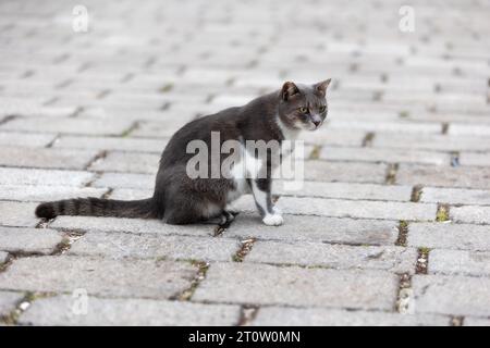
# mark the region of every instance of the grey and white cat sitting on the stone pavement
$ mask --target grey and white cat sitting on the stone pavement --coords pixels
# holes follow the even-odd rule
[[[209,146],[215,132],[220,135],[221,144],[226,140],[242,145],[246,140],[294,140],[299,132],[316,130],[323,124],[330,82],[330,78],[314,85],[286,82],[280,90],[258,97],[243,107],[225,109],[187,123],[172,136],[163,150],[151,198],[132,201],[93,197],[66,199],[40,203],[35,213],[45,219],[58,215],[161,219],[168,224],[220,219],[220,223],[225,225],[236,215],[231,203],[243,194],[252,192],[262,222],[279,226],[283,217],[271,197],[270,174],[277,166],[270,160],[271,153],[260,158],[243,147],[241,161],[228,173],[231,176],[192,178],[187,175],[187,163],[193,153],[187,152],[187,145],[198,139]],[[220,158],[226,156],[220,153]],[[266,175],[235,175],[248,160],[258,162]]]

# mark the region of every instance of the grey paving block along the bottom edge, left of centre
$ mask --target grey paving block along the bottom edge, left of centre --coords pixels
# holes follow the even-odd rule
[[[76,314],[73,301],[71,296],[36,300],[19,323],[42,326],[224,326],[235,325],[240,320],[238,306],[88,297],[87,313]]]

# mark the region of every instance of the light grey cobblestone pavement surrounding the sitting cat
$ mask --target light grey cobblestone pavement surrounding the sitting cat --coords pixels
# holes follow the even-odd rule
[[[490,324],[488,1],[403,1],[413,33],[395,0],[79,3],[0,2],[2,324]],[[34,216],[147,197],[185,122],[327,77],[281,227]]]

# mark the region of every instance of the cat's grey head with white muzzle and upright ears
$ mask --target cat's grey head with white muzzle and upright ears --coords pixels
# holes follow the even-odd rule
[[[330,80],[315,85],[284,83],[280,92],[280,121],[291,129],[318,129],[328,113],[327,87]]]

